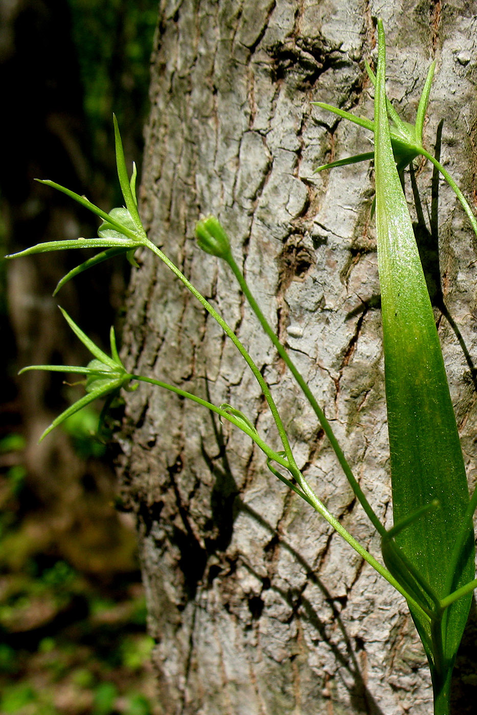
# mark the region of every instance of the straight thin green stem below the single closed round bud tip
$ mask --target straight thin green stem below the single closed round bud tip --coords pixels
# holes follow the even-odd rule
[[[231,253],[229,254],[228,257],[226,257],[226,261],[228,262],[228,265],[231,267],[231,271],[233,272],[233,275],[236,277],[238,285],[241,287],[242,292],[244,292],[246,299],[249,301],[251,309],[254,311],[256,317],[259,319],[261,327],[264,329],[264,332],[266,332],[266,335],[269,336],[271,342],[273,342],[274,346],[276,347],[276,351],[279,353],[280,357],[284,360],[284,363],[288,366],[288,368],[289,368],[291,374],[294,376],[295,380],[297,380],[298,385],[300,386],[300,388],[302,388],[302,391],[303,391],[305,397],[309,401],[309,404],[312,406],[312,409],[313,409],[315,415],[317,415],[319,423],[320,423],[320,425],[322,425],[323,431],[324,431],[325,435],[327,435],[327,438],[329,439],[329,443],[332,445],[335,455],[337,455],[337,459],[339,461],[339,464],[342,467],[342,470],[344,471],[344,475],[346,476],[348,482],[350,483],[352,490],[354,491],[355,495],[357,496],[357,499],[360,501],[362,508],[365,510],[367,517],[370,519],[372,526],[375,527],[376,531],[380,534],[380,536],[385,536],[386,530],[385,530],[384,526],[382,526],[382,523],[380,522],[380,520],[377,518],[375,512],[372,510],[370,503],[367,501],[367,498],[365,497],[364,493],[361,490],[360,485],[357,483],[355,475],[353,475],[353,473],[352,473],[350,465],[348,464],[347,459],[344,456],[342,448],[339,446],[337,438],[334,436],[331,425],[329,424],[326,416],[324,415],[322,408],[320,408],[319,404],[317,403],[317,400],[315,400],[312,391],[309,389],[309,387],[308,387],[307,383],[305,382],[304,378],[302,377],[301,373],[299,373],[299,370],[297,370],[296,366],[292,362],[292,360],[289,357],[288,353],[286,352],[285,348],[283,347],[283,345],[281,345],[281,342],[279,341],[278,337],[276,336],[273,328],[271,327],[269,322],[266,320],[266,317],[264,316],[263,312],[261,312],[258,303],[256,302],[254,296],[252,295],[252,293],[249,289],[249,285],[247,284],[243,273],[241,272],[240,268],[236,264],[236,261],[234,260]]]

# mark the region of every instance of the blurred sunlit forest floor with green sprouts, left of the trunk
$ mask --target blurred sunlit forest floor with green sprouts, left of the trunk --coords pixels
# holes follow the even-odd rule
[[[62,552],[67,533],[44,538],[52,512],[33,498],[23,450],[18,433],[0,439],[0,714],[158,714],[131,520],[116,515],[116,573],[107,550],[82,571]]]

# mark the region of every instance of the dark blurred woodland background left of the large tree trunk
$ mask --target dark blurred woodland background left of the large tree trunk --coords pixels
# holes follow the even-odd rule
[[[157,0],[0,0],[1,257],[97,235],[95,217],[36,177],[106,211],[121,203],[112,112],[140,172],[156,19]],[[0,262],[1,715],[158,711],[133,516],[117,495],[115,448],[95,438],[101,405],[37,445],[82,388],[61,373],[16,376],[90,360],[57,302],[101,347],[110,325],[120,332],[127,262],[52,298],[89,255]]]

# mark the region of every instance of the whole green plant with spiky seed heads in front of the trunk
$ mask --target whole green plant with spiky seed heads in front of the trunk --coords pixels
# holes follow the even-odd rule
[[[372,510],[334,437],[326,416],[251,294],[244,275],[233,259],[230,242],[223,227],[215,217],[206,217],[198,222],[196,235],[198,245],[203,250],[226,261],[231,268],[261,327],[269,335],[277,352],[309,400],[357,499],[380,535],[385,566],[363,548],[342,526],[342,523],[329,513],[300,472],[269,387],[231,327],[178,267],[148,239],[138,214],[135,169],[133,168],[133,175],[129,179],[116,121],[117,173],[125,207],[112,209],[107,215],[84,197],[70,192],[59,184],[46,181],[44,183],[68,194],[102,218],[103,223],[98,230],[99,237],[39,244],[16,255],[77,247],[102,249],[97,255],[70,271],[59,282],[57,286],[59,290],[74,275],[109,257],[126,253],[131,262],[134,262],[134,252],[139,247],[152,251],[218,322],[246,361],[269,405],[282,449],[274,450],[267,445],[251,420],[232,405],[216,406],[174,385],[149,378],[147,375],[128,373],[117,352],[113,330],[110,333],[111,355],[106,355],[64,311],[64,317],[70,327],[92,353],[91,362],[86,368],[35,365],[24,370],[61,370],[85,375],[85,396],[59,415],[45,430],[42,438],[92,400],[106,398],[107,407],[121,388],[133,389],[137,384],[132,387],[131,383],[138,382],[158,385],[202,405],[216,413],[221,420],[228,420],[249,435],[266,455],[266,463],[271,472],[324,516],[345,541],[405,597],[428,656],[433,680],[435,714],[445,715],[450,709],[450,677],[453,664],[466,625],[472,591],[477,585],[473,567],[472,526],[477,494],[474,493],[471,499],[468,495],[456,419],[450,402],[433,310],[399,173],[418,154],[423,154],[443,172],[466,209],[476,232],[477,222],[456,183],[428,154],[422,144],[423,122],[433,77],[433,66],[425,83],[415,127],[411,127],[402,122],[392,105],[387,102],[385,38],[380,22],[378,22],[378,32],[377,75],[375,76],[368,68],[372,82],[375,84],[374,122],[353,117],[326,104],[318,104],[341,117],[352,119],[353,122],[372,130],[375,134],[375,152],[372,154],[343,159],[326,164],[320,169],[372,157],[375,159],[375,213],[394,512],[394,526],[390,531],[386,531]]]

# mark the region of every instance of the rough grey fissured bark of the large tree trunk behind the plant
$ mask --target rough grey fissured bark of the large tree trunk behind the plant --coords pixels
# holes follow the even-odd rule
[[[198,252],[192,237],[200,212],[221,218],[264,312],[390,526],[373,174],[356,164],[313,175],[327,160],[369,151],[370,137],[310,104],[372,117],[363,60],[375,56],[377,14],[388,91],[405,119],[414,120],[437,59],[425,137],[432,150],[443,119],[443,162],[473,201],[477,4],[458,0],[162,1],[141,197],[150,237],[218,305],[272,385],[307,478],[375,554],[379,542],[306,400],[226,266]],[[421,167],[426,222],[431,179]],[[409,175],[406,182],[410,189]],[[434,189],[440,265],[435,222],[433,232],[421,222],[418,237],[471,475],[477,242],[450,189],[442,180]],[[231,403],[278,447],[233,345],[165,267],[150,255],[140,262],[128,368]],[[428,668],[403,598],[269,473],[248,438],[144,385],[127,400],[127,423],[123,484],[138,513],[165,714],[430,713]],[[461,670],[463,712],[475,682],[459,679]]]

